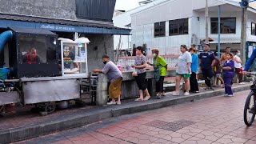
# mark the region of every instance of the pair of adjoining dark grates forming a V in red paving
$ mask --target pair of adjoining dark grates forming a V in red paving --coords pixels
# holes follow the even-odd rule
[[[152,122],[148,122],[145,125],[157,127],[159,129],[163,129],[163,130],[177,131],[186,126],[193,125],[194,123],[195,122],[186,121],[186,120],[180,120],[180,121],[175,121],[175,122],[165,122],[165,121],[155,120]]]

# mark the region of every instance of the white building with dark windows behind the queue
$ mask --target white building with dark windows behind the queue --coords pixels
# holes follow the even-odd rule
[[[148,4],[149,5],[149,4]],[[218,46],[218,6],[221,8],[221,50],[230,46],[240,50],[242,30],[242,9],[239,1],[208,0],[209,18],[205,18],[205,0],[166,0],[131,14],[131,44],[147,50],[158,47],[162,55],[180,54],[179,47],[196,46],[202,48],[206,37],[206,20],[212,50]],[[256,10],[248,8],[246,41],[256,42]]]

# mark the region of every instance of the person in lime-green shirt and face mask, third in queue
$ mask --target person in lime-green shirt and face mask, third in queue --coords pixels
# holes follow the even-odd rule
[[[157,98],[165,96],[163,91],[163,81],[167,74],[167,63],[164,58],[159,56],[158,48],[151,50],[153,55],[153,63],[147,62],[148,65],[154,66],[154,78],[156,81]]]

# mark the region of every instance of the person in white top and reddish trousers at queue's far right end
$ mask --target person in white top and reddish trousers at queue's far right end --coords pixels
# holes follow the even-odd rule
[[[245,83],[242,82],[242,61],[240,56],[240,50],[237,50],[235,52],[235,56],[234,56],[234,68],[235,68],[235,72],[236,74],[238,74],[238,83],[240,85],[244,85]]]

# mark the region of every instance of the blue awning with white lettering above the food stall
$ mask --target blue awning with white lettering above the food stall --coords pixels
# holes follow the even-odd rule
[[[118,28],[110,24],[101,24],[100,22],[84,22],[0,13],[0,28],[8,27],[43,29],[54,32],[130,35],[129,29]]]

